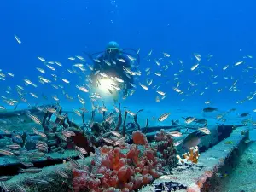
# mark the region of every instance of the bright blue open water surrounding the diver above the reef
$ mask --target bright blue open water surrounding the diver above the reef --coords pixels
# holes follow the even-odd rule
[[[79,94],[90,111],[91,90],[84,93],[76,88],[88,83],[87,64],[92,65],[92,61],[84,52],[104,51],[109,41],[116,41],[122,49],[135,49],[140,56],[140,64],[134,69],[141,72],[135,77],[135,93],[125,100],[120,93],[119,102],[132,112],[144,109],[138,117],[142,126],[147,118],[149,125],[154,126],[171,125],[171,119],[178,119],[182,124],[182,117],[187,116],[207,119],[209,125],[240,125],[245,119],[255,125],[255,6],[253,0],[2,1],[0,106],[15,108],[6,103],[6,99],[13,99],[20,102],[17,109],[24,109],[29,108],[27,103],[31,106],[55,103],[53,96],[57,96],[64,110],[73,110],[82,107],[77,98]],[[78,55],[86,61],[79,61]],[[197,61],[195,55],[199,55],[201,61]],[[47,62],[58,61],[62,67],[53,64],[55,71],[52,71],[38,57]],[[70,57],[75,61],[69,60]],[[160,66],[155,61],[159,61]],[[87,70],[84,74],[79,76],[67,71],[81,62]],[[195,64],[198,67],[191,70]],[[45,73],[39,73],[37,67]],[[151,74],[147,75],[148,68]],[[50,79],[51,83],[39,83],[38,76]],[[37,87],[25,84],[24,79],[31,80]],[[61,79],[68,79],[70,83],[65,84]],[[150,79],[153,83],[148,85]],[[63,89],[56,90],[51,84],[61,85]],[[148,90],[140,84],[147,85]],[[24,87],[27,102],[20,101],[17,85]],[[164,92],[166,97],[162,98],[156,90]],[[68,100],[63,91],[73,100]],[[160,102],[156,102],[157,97]],[[103,100],[109,111],[113,110],[113,98],[108,94]],[[96,102],[96,106],[102,106],[102,100]],[[218,111],[202,113],[206,107],[218,108]],[[235,113],[230,113],[231,108],[236,108]],[[165,122],[155,120],[169,112],[171,115]],[[241,118],[241,113],[249,115]],[[86,115],[88,121],[90,113]],[[218,119],[219,115],[223,116]],[[81,121],[79,116],[74,115],[74,119]],[[0,120],[1,127],[4,120]],[[255,131],[250,134],[250,139],[255,141]]]

